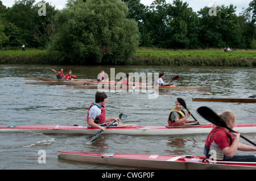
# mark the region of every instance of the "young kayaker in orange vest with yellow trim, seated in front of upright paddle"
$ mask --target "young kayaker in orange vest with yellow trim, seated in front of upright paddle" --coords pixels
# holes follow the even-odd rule
[[[191,112],[188,111],[186,116],[182,108],[183,106],[176,100],[175,108],[171,110],[168,117],[168,125],[170,127],[184,126],[185,123],[198,123],[198,121],[195,120],[187,120],[188,117],[191,116]]]

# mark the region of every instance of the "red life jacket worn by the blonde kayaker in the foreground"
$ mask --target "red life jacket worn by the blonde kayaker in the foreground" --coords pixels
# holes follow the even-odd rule
[[[222,150],[220,149],[220,147],[218,146],[213,146],[212,142],[210,142],[210,138],[212,137],[212,135],[214,133],[216,133],[217,131],[223,131],[226,133],[226,136],[228,136],[229,138],[229,145],[232,145],[232,137],[230,136],[230,134],[228,132],[226,132],[223,128],[214,128],[210,134],[207,137],[207,141],[205,142],[205,146],[204,146],[204,155],[209,158],[211,155],[209,155],[209,151],[210,150],[215,150],[216,151],[216,159],[217,160],[224,160],[224,159],[229,159],[228,157],[226,157],[226,155],[222,152]]]

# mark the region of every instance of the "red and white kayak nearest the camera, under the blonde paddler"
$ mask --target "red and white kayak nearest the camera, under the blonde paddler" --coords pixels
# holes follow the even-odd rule
[[[142,167],[150,169],[256,169],[256,162],[211,161],[205,157],[192,155],[79,153],[57,151],[57,157],[59,159],[68,159],[72,161],[104,163],[109,165]]]

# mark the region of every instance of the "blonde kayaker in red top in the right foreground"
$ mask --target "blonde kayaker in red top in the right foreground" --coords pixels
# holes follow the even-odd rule
[[[236,123],[236,114],[234,112],[226,110],[219,116],[229,128],[234,128]],[[241,144],[239,140],[239,131],[233,133],[216,125],[207,137],[204,154],[207,157],[217,159],[217,161],[256,162],[254,155],[235,155],[237,150],[256,151],[255,147]],[[209,151],[213,152],[213,155],[209,155]]]

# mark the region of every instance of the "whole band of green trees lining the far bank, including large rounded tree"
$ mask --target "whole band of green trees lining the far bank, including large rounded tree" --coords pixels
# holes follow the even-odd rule
[[[44,2],[44,1],[41,1]],[[189,1],[68,0],[65,9],[46,3],[39,16],[35,0],[16,0],[12,7],[0,1],[0,48],[26,44],[48,49],[67,64],[122,64],[138,46],[172,49],[255,49],[256,0],[240,15],[235,5],[194,12]]]

